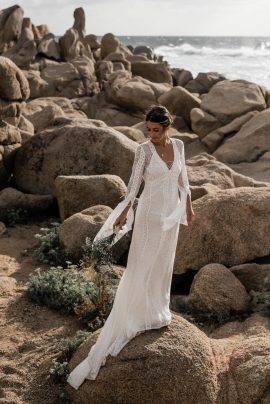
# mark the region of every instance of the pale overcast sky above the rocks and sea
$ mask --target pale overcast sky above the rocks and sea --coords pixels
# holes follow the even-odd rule
[[[1,0],[19,4],[34,24],[56,35],[84,7],[87,34],[270,36],[270,0]]]

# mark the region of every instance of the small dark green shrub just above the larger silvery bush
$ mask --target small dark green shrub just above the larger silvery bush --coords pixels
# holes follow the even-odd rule
[[[42,227],[41,233],[36,234],[38,246],[34,256],[43,264],[63,265],[71,263],[68,254],[61,248],[58,236],[60,223],[51,222],[48,227]]]

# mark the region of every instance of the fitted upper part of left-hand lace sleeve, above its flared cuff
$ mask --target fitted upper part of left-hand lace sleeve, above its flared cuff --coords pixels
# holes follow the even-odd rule
[[[137,146],[134,162],[132,166],[132,171],[130,179],[127,185],[127,191],[124,196],[124,200],[131,202],[131,206],[139,192],[140,185],[142,183],[143,172],[145,167],[145,152],[141,145]]]

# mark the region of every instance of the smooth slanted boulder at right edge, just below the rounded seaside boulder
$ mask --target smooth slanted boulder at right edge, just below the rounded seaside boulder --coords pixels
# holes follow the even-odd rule
[[[225,139],[214,152],[214,156],[231,164],[257,161],[270,151],[269,131],[268,108],[249,119],[234,136]]]

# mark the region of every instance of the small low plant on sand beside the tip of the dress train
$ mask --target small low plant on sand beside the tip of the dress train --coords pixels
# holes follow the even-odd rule
[[[58,349],[60,353],[52,360],[49,373],[55,383],[63,383],[68,376],[68,363],[72,354],[89,336],[90,332],[79,330],[73,337],[64,338],[59,342]]]

